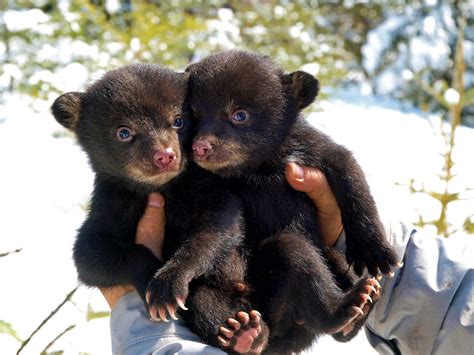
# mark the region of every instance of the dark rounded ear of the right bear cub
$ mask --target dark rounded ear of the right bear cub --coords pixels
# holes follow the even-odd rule
[[[283,75],[283,84],[292,95],[299,109],[309,106],[319,93],[319,81],[304,71]]]

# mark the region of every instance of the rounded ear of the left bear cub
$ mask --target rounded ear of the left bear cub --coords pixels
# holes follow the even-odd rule
[[[51,106],[54,118],[67,129],[74,131],[79,121],[82,92],[68,92],[59,96]]]

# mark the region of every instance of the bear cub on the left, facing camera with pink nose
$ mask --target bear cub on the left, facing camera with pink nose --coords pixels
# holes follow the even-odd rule
[[[133,285],[155,320],[179,312],[205,342],[255,351],[268,328],[236,287],[246,274],[242,205],[220,178],[188,161],[187,77],[131,65],[54,102],[54,117],[76,134],[96,173],[74,262],[88,286]],[[163,262],[134,243],[151,192],[166,200]]]

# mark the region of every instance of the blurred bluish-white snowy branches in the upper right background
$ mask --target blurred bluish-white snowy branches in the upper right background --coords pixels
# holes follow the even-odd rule
[[[446,71],[452,66],[457,31],[452,7],[447,3],[423,9],[406,5],[403,14],[388,13],[380,25],[368,32],[361,48],[362,66],[372,78],[374,91],[401,95],[411,78]],[[473,58],[471,42],[464,41],[466,63]],[[404,75],[407,69],[412,75]]]

